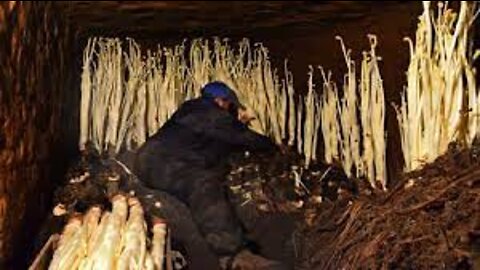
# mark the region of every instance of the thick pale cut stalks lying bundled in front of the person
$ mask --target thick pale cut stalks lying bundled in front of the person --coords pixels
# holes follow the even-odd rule
[[[155,223],[152,233],[148,239],[138,199],[117,195],[111,212],[93,206],[69,220],[49,269],[163,269],[165,223]]]

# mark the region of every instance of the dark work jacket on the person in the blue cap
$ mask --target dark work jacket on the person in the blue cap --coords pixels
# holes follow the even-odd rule
[[[271,151],[275,144],[206,98],[185,102],[139,149],[135,171],[147,185],[182,199],[228,170],[235,151]]]

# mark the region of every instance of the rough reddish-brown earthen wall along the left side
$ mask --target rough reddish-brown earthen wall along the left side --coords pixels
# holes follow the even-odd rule
[[[76,146],[73,36],[52,3],[0,2],[0,268],[26,262]]]

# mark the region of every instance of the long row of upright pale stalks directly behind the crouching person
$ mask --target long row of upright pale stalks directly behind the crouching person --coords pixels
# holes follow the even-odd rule
[[[232,48],[228,40],[195,39],[189,48],[184,43],[142,54],[135,41],[127,41],[88,41],[81,85],[80,149],[88,142],[99,152],[112,154],[137,148],[183,101],[198,97],[200,89],[215,80],[235,89],[253,118],[252,129],[290,145],[303,136],[297,134],[303,128],[297,122],[292,74],[285,63],[285,78],[280,79],[263,45],[252,47],[244,39]],[[316,141],[313,137],[300,140]],[[311,148],[308,151],[314,152]]]

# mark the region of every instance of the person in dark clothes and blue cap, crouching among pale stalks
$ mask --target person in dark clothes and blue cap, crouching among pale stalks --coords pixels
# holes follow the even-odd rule
[[[135,171],[147,186],[184,202],[214,252],[238,253],[244,244],[239,221],[222,181],[236,151],[275,151],[268,137],[238,119],[243,108],[222,82],[204,86],[202,96],[183,103],[139,149]]]

